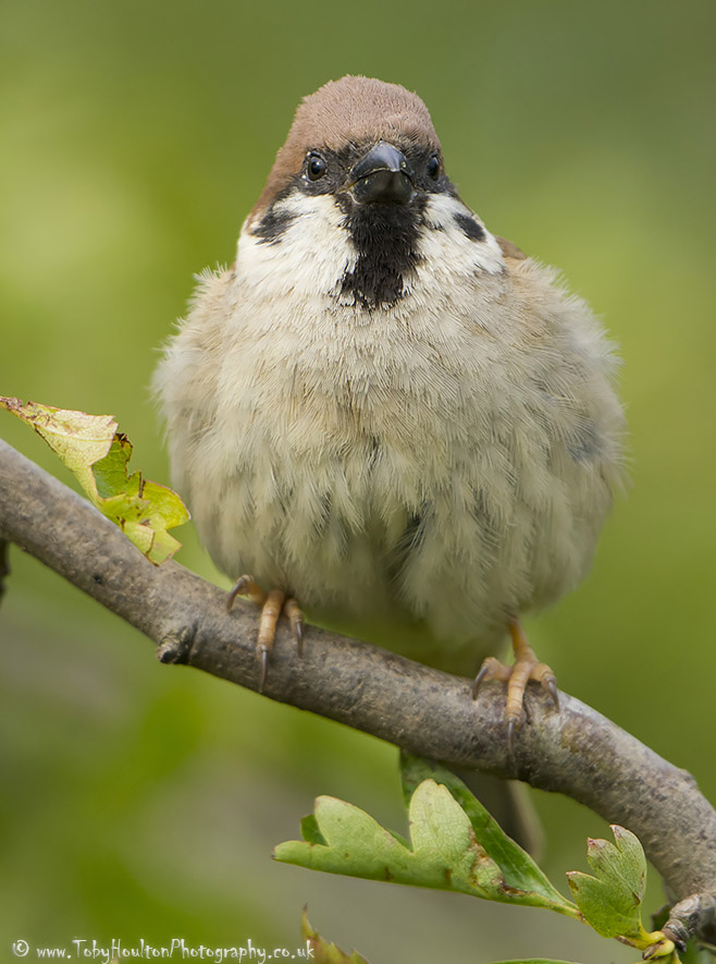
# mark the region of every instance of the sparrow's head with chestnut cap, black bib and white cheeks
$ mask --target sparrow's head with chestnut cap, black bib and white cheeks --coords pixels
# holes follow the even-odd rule
[[[304,99],[246,231],[274,247],[267,256],[276,266],[276,247],[296,248],[306,271],[311,258],[321,268],[326,293],[369,309],[411,290],[436,231],[478,255],[478,266],[501,268],[494,239],[445,173],[425,105],[369,77],[346,76]],[[476,243],[486,244],[481,256]]]

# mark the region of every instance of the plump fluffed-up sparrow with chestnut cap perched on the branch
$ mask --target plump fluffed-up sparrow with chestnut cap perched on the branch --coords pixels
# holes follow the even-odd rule
[[[417,94],[298,106],[231,267],[199,277],[155,387],[172,478],[230,602],[506,684],[522,626],[585,577],[622,476],[614,345],[558,272],[491,233]],[[511,639],[515,663],[496,654]]]

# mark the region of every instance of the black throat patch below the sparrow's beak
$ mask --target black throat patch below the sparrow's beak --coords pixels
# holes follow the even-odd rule
[[[403,297],[421,257],[418,239],[425,200],[418,196],[409,205],[344,206],[343,227],[350,233],[358,258],[343,276],[343,298],[371,309],[394,305]]]

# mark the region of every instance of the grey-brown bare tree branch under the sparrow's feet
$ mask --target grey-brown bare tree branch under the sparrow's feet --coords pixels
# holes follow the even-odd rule
[[[176,563],[155,568],[72,490],[0,441],[0,540],[35,556],[186,663],[257,690],[252,606]],[[298,658],[282,626],[264,693],[372,733],[412,754],[565,793],[628,827],[675,900],[677,938],[716,942],[716,812],[693,778],[595,710],[561,694],[556,712],[530,691],[531,723],[507,743],[504,692],[311,627]]]

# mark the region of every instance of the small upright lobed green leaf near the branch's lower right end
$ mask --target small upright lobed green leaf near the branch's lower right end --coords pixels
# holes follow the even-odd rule
[[[626,937],[641,943],[649,935],[641,923],[641,901],[646,859],[637,837],[624,827],[612,827],[616,845],[589,840],[587,859],[594,876],[571,870],[569,888],[584,919],[602,937]]]

